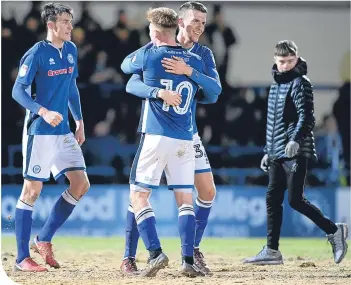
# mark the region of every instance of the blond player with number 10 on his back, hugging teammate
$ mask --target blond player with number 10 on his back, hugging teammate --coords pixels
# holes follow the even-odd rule
[[[169,106],[156,98],[147,98],[141,114],[139,149],[130,174],[130,198],[137,229],[150,253],[143,276],[155,276],[167,266],[168,258],[162,252],[156,232],[156,219],[149,197],[159,186],[163,171],[168,187],[174,190],[179,208],[178,227],[182,245],[182,268],[185,276],[204,276],[194,265],[195,213],[192,203],[195,151],[191,106],[198,85],[185,75],[174,75],[162,66],[164,58],[176,56],[203,72],[200,56],[177,45],[177,13],[169,8],[148,11],[150,37],[154,46],[140,49],[125,62],[127,73],[142,73],[145,83],[157,88],[173,90],[182,95],[182,103]]]

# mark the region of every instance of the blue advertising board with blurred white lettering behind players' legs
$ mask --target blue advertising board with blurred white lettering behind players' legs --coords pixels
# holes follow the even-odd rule
[[[1,191],[1,227],[3,234],[14,232],[14,216],[20,185],[3,185]],[[46,185],[33,212],[33,231],[46,221],[64,185]],[[218,186],[205,235],[213,237],[264,237],[266,235],[265,187]],[[309,188],[306,197],[334,221],[350,226],[350,188]],[[150,199],[161,236],[178,236],[178,209],[172,191],[165,186],[152,192]],[[92,185],[81,199],[60,235],[124,235],[129,205],[128,185]],[[293,211],[284,201],[282,236],[323,237],[308,218]]]

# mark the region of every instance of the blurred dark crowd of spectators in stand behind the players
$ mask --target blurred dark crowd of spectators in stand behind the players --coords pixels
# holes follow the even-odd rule
[[[81,3],[82,15],[72,32],[72,41],[78,48],[77,81],[87,136],[83,151],[88,169],[97,169],[96,173],[91,173],[93,183],[128,183],[129,168],[139,139],[136,128],[141,100],[125,92],[129,76],[123,74],[120,64],[128,54],[149,41],[148,26],[145,23],[142,29],[135,29],[129,23],[127,13],[119,10],[115,25],[103,29],[89,14],[86,3]],[[236,87],[225,81],[229,49],[240,42],[236,31],[226,26],[221,6],[211,5],[214,5],[213,12],[208,17],[201,43],[214,52],[223,92],[216,104],[198,105],[199,134],[207,146],[217,184],[241,181],[266,185],[267,176],[258,168],[265,144],[269,86]],[[21,57],[46,37],[40,19],[41,6],[41,2],[33,2],[23,24],[18,24],[14,17],[6,20],[2,17],[1,21],[3,169],[22,166],[20,149],[9,152],[9,146],[21,144],[25,114],[11,98],[11,91]],[[35,86],[33,89],[35,93]],[[339,89],[333,112],[325,115],[314,131],[319,161],[310,165],[316,171],[311,171],[307,183],[314,186],[349,185],[349,74]],[[3,183],[21,183],[21,173],[14,173],[3,171]]]

